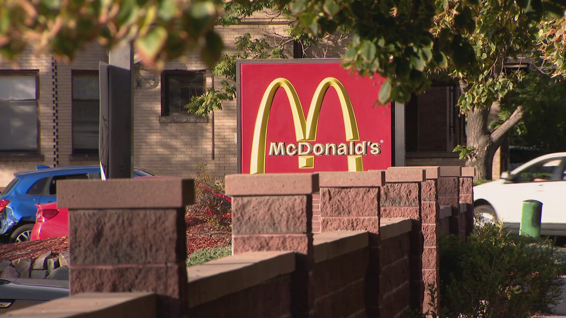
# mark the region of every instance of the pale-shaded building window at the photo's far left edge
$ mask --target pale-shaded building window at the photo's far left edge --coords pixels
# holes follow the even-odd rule
[[[38,151],[38,71],[0,71],[0,152]]]

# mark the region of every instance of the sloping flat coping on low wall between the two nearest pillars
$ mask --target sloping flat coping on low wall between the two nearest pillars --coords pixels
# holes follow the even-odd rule
[[[293,251],[246,252],[187,267],[188,308],[236,293],[294,270]]]

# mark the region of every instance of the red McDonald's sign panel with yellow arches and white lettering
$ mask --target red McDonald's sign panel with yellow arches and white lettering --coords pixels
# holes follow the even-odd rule
[[[237,71],[241,173],[392,166],[393,109],[375,105],[383,78],[336,59],[244,60]]]

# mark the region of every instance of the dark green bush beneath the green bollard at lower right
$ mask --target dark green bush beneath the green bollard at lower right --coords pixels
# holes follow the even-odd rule
[[[482,224],[466,243],[445,235],[439,249],[443,316],[526,318],[561,300],[566,265],[551,240]]]

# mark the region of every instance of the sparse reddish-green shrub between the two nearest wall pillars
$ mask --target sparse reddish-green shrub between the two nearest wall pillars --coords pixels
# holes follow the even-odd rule
[[[215,178],[206,166],[203,163],[197,166],[195,204],[187,207],[187,213],[195,214],[215,226],[216,230],[230,231],[232,208],[230,199],[224,197],[224,180]]]

